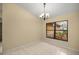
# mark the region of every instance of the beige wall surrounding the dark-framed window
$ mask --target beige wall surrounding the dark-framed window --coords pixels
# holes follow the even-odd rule
[[[68,42],[46,38],[46,23],[68,20]],[[55,19],[48,19],[43,23],[43,41],[56,46],[79,50],[79,12],[57,16]]]

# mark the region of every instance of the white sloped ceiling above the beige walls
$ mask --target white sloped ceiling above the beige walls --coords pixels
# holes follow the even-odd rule
[[[36,17],[43,13],[43,3],[18,3],[17,5],[25,8]],[[46,12],[53,18],[58,15],[79,11],[78,3],[46,3]]]

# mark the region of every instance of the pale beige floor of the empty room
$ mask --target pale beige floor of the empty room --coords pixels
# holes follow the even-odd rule
[[[19,47],[13,50],[9,50],[4,54],[8,55],[78,55],[78,51],[67,50],[52,46],[45,42],[36,43],[30,47]]]

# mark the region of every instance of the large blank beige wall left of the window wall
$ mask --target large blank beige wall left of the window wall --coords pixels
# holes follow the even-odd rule
[[[41,21],[16,4],[3,4],[3,50],[39,41]]]

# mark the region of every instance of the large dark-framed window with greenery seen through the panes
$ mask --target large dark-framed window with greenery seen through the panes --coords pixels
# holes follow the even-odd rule
[[[68,41],[68,21],[46,23],[46,37]]]

